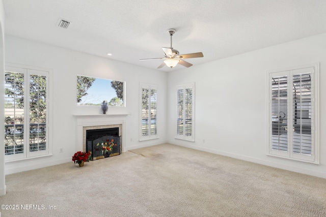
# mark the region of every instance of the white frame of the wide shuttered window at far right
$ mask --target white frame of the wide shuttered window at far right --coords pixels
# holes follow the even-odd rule
[[[292,85],[294,75],[304,75],[305,73],[300,73],[300,71],[307,71],[311,68],[311,84],[312,84],[312,123],[311,123],[311,155],[297,154],[293,153],[293,132],[287,132],[287,151],[273,150],[272,148],[272,131],[273,131],[273,118],[272,117],[272,95],[271,95],[271,77],[272,76],[287,76],[287,129],[292,129],[293,125],[293,95],[292,95]],[[310,64],[301,67],[291,67],[280,70],[267,71],[266,73],[266,155],[278,158],[284,158],[294,161],[307,162],[313,164],[319,164],[319,64]],[[303,109],[304,110],[304,109]],[[305,118],[302,118],[305,119]]]

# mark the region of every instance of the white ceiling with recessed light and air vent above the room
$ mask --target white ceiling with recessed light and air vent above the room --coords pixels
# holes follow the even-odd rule
[[[5,33],[156,69],[170,47],[199,65],[326,32],[325,0],[3,0]],[[67,29],[59,18],[71,21]],[[108,56],[107,53],[112,53]],[[177,66],[172,70],[183,69]],[[164,67],[161,71],[171,71]]]

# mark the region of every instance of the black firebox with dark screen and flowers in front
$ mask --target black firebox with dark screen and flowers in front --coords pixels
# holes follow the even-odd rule
[[[119,155],[120,143],[119,127],[86,130],[86,152],[92,161]]]

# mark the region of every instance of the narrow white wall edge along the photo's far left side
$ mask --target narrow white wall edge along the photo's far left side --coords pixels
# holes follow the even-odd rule
[[[0,73],[2,76],[0,76],[0,102],[4,102],[5,98],[5,76],[4,76],[4,21],[5,21],[5,11],[4,11],[4,5],[3,1],[0,0]],[[3,104],[1,104],[3,105]],[[4,114],[4,106],[0,106],[0,114]],[[5,122],[5,116],[1,115],[0,117],[0,122],[4,123]],[[5,126],[0,125],[0,132],[5,132]],[[5,141],[5,135],[2,133],[0,134],[0,141]],[[1,142],[0,143],[0,196],[6,194],[6,183],[5,183],[5,143]]]

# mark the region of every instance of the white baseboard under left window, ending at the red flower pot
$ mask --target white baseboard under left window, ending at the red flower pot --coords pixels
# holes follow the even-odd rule
[[[58,164],[64,164],[67,162],[71,162],[71,158],[61,159],[61,160],[51,161],[51,162],[43,162],[42,164],[39,164],[36,162],[35,164],[32,164],[32,165],[15,167],[15,168],[10,168],[10,169],[6,169],[6,165],[5,165],[5,174],[9,175],[9,174],[18,173],[18,172],[35,170],[35,169],[39,169],[39,168],[43,168],[43,167],[50,167],[50,166],[55,166]],[[15,163],[15,162],[10,162],[10,163]],[[7,163],[7,164],[10,164],[10,163]]]

